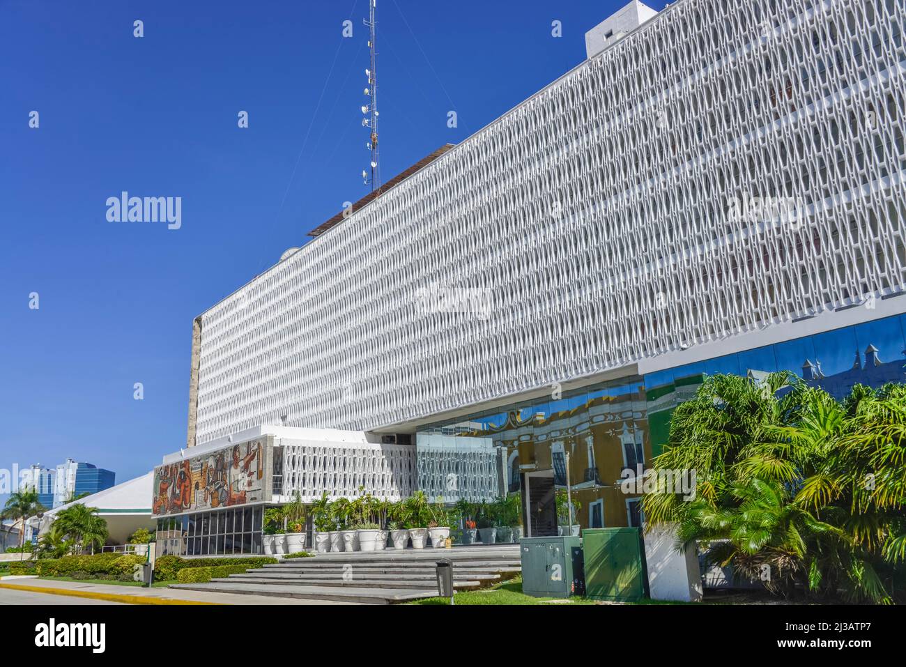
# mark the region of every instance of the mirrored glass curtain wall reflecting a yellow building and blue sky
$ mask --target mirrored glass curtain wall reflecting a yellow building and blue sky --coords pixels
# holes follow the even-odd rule
[[[897,315],[431,424],[416,438],[419,488],[447,502],[490,501],[522,493],[526,472],[549,473],[563,498],[568,474],[573,524],[639,526],[640,496],[624,492],[622,479],[651,466],[669,439],[673,410],[706,375],[758,380],[787,370],[842,400],[857,383],[906,382],[904,329],[906,315]]]

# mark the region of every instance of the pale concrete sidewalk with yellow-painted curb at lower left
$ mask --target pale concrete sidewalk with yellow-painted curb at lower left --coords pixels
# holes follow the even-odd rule
[[[139,586],[104,585],[53,579],[0,579],[0,598],[5,591],[33,594],[56,594],[85,600],[104,600],[124,604],[351,604],[324,600],[300,600],[269,595],[239,595],[173,588],[140,588]]]

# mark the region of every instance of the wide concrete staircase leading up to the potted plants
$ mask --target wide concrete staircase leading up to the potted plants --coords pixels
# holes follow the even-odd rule
[[[509,579],[522,568],[518,545],[459,546],[452,549],[406,549],[318,554],[281,559],[276,565],[207,584],[171,588],[219,593],[275,595],[306,600],[391,604],[438,594],[436,563],[453,562],[454,586],[472,590]]]

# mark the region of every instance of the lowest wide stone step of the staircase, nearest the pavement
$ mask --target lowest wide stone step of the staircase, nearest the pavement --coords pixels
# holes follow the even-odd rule
[[[181,588],[187,591],[208,591],[214,593],[233,593],[246,595],[273,595],[275,597],[293,597],[305,600],[331,600],[333,602],[356,602],[361,604],[391,604],[409,602],[431,597],[429,591],[416,588],[356,588],[353,586],[294,586],[294,585],[260,585],[232,584],[228,582],[211,582],[209,584],[174,584],[170,588]]]

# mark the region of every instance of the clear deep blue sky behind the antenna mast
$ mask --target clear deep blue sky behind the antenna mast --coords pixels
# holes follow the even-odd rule
[[[379,0],[384,178],[581,63],[623,4]],[[0,0],[0,468],[124,481],[184,444],[193,317],[366,193],[367,7]],[[182,227],[107,222],[121,190],[181,197]]]

